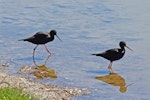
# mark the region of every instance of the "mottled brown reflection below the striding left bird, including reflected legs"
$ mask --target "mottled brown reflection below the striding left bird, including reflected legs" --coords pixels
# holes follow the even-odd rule
[[[27,76],[34,75],[37,79],[45,78],[57,78],[56,72],[54,69],[51,69],[46,66],[47,61],[49,60],[50,55],[46,58],[45,63],[37,65],[35,60],[33,61],[35,66],[23,66],[19,69],[18,73],[25,74]]]

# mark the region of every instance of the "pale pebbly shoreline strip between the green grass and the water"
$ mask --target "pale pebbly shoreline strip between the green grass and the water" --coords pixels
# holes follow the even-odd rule
[[[10,76],[0,68],[0,87],[7,86],[22,88],[24,93],[30,93],[40,100],[72,100],[75,96],[88,94],[87,89],[60,87],[20,76]]]

